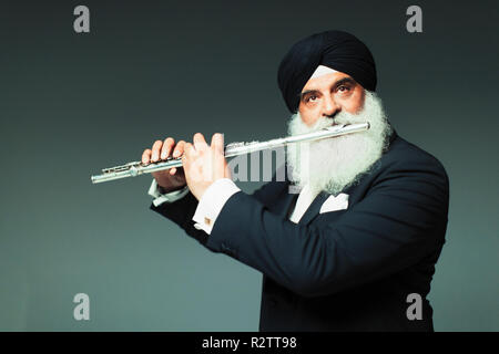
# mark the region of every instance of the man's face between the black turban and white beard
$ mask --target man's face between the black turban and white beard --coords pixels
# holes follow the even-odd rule
[[[340,111],[357,114],[364,106],[365,91],[352,76],[334,72],[308,80],[302,90],[299,115],[314,125],[322,117],[334,117]]]

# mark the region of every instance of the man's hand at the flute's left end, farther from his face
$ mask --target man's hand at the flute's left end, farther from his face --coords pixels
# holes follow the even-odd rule
[[[167,137],[164,142],[156,140],[152,149],[147,148],[142,153],[142,163],[157,163],[165,160],[169,157],[180,157],[184,154],[185,142],[180,140],[175,144],[172,137]],[[164,192],[170,192],[180,189],[186,185],[184,169],[170,168],[152,173],[152,176],[156,180],[157,185],[163,188]]]

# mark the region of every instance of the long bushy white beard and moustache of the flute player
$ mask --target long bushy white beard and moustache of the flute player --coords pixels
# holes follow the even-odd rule
[[[337,195],[358,181],[388,145],[391,127],[381,100],[368,91],[358,114],[340,112],[334,118],[324,117],[313,126],[307,126],[297,113],[291,117],[288,133],[297,135],[315,132],[330,126],[333,121],[335,124],[369,122],[370,128],[363,133],[289,145],[287,163],[292,181],[298,188],[308,185],[312,192],[324,190]]]

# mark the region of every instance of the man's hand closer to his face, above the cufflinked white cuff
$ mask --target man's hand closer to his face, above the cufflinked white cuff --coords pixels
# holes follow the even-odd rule
[[[206,189],[217,179],[231,178],[224,156],[224,137],[214,134],[208,146],[203,134],[196,133],[194,144],[186,143],[182,164],[191,192],[201,200]]]

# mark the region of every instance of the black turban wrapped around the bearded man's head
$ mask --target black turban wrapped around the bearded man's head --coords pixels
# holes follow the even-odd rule
[[[279,65],[277,81],[292,113],[297,111],[302,88],[318,65],[350,75],[368,91],[376,90],[376,65],[363,42],[343,31],[316,33],[293,45]]]

